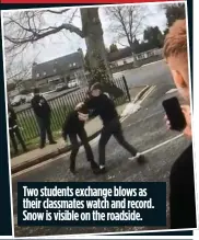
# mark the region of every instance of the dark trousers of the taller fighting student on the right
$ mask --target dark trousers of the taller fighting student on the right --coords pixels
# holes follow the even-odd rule
[[[132,156],[137,155],[137,149],[129,145],[122,135],[121,124],[119,119],[114,119],[104,128],[101,133],[101,139],[98,142],[98,155],[99,155],[99,164],[105,165],[105,148],[110,139],[112,135],[116,138],[119,145],[121,145],[127,151],[129,151]]]

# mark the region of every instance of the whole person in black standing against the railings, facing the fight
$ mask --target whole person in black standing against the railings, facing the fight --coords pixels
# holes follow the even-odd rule
[[[38,89],[34,89],[34,98],[32,99],[31,104],[40,129],[40,148],[44,148],[46,145],[46,133],[49,144],[57,144],[52,138],[50,129],[50,106],[45,98],[39,94]]]

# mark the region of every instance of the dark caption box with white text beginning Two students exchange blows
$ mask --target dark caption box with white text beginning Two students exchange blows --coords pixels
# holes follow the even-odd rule
[[[19,226],[166,226],[166,183],[19,183]]]

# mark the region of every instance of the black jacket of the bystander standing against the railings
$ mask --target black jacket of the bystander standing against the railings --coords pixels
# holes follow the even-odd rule
[[[42,95],[35,95],[31,104],[33,106],[33,111],[37,117],[47,118],[50,115],[50,106],[48,102]]]

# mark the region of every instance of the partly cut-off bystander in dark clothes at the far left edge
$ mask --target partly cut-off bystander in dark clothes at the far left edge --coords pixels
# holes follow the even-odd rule
[[[17,142],[16,142],[15,136],[16,136],[17,140],[20,141],[23,151],[25,152],[25,151],[27,151],[27,149],[26,149],[25,142],[22,138],[22,135],[20,133],[20,128],[17,126],[16,114],[10,104],[8,106],[8,113],[9,113],[9,134],[10,134],[10,139],[12,141],[12,146],[14,148],[14,153],[15,155],[19,153]]]

